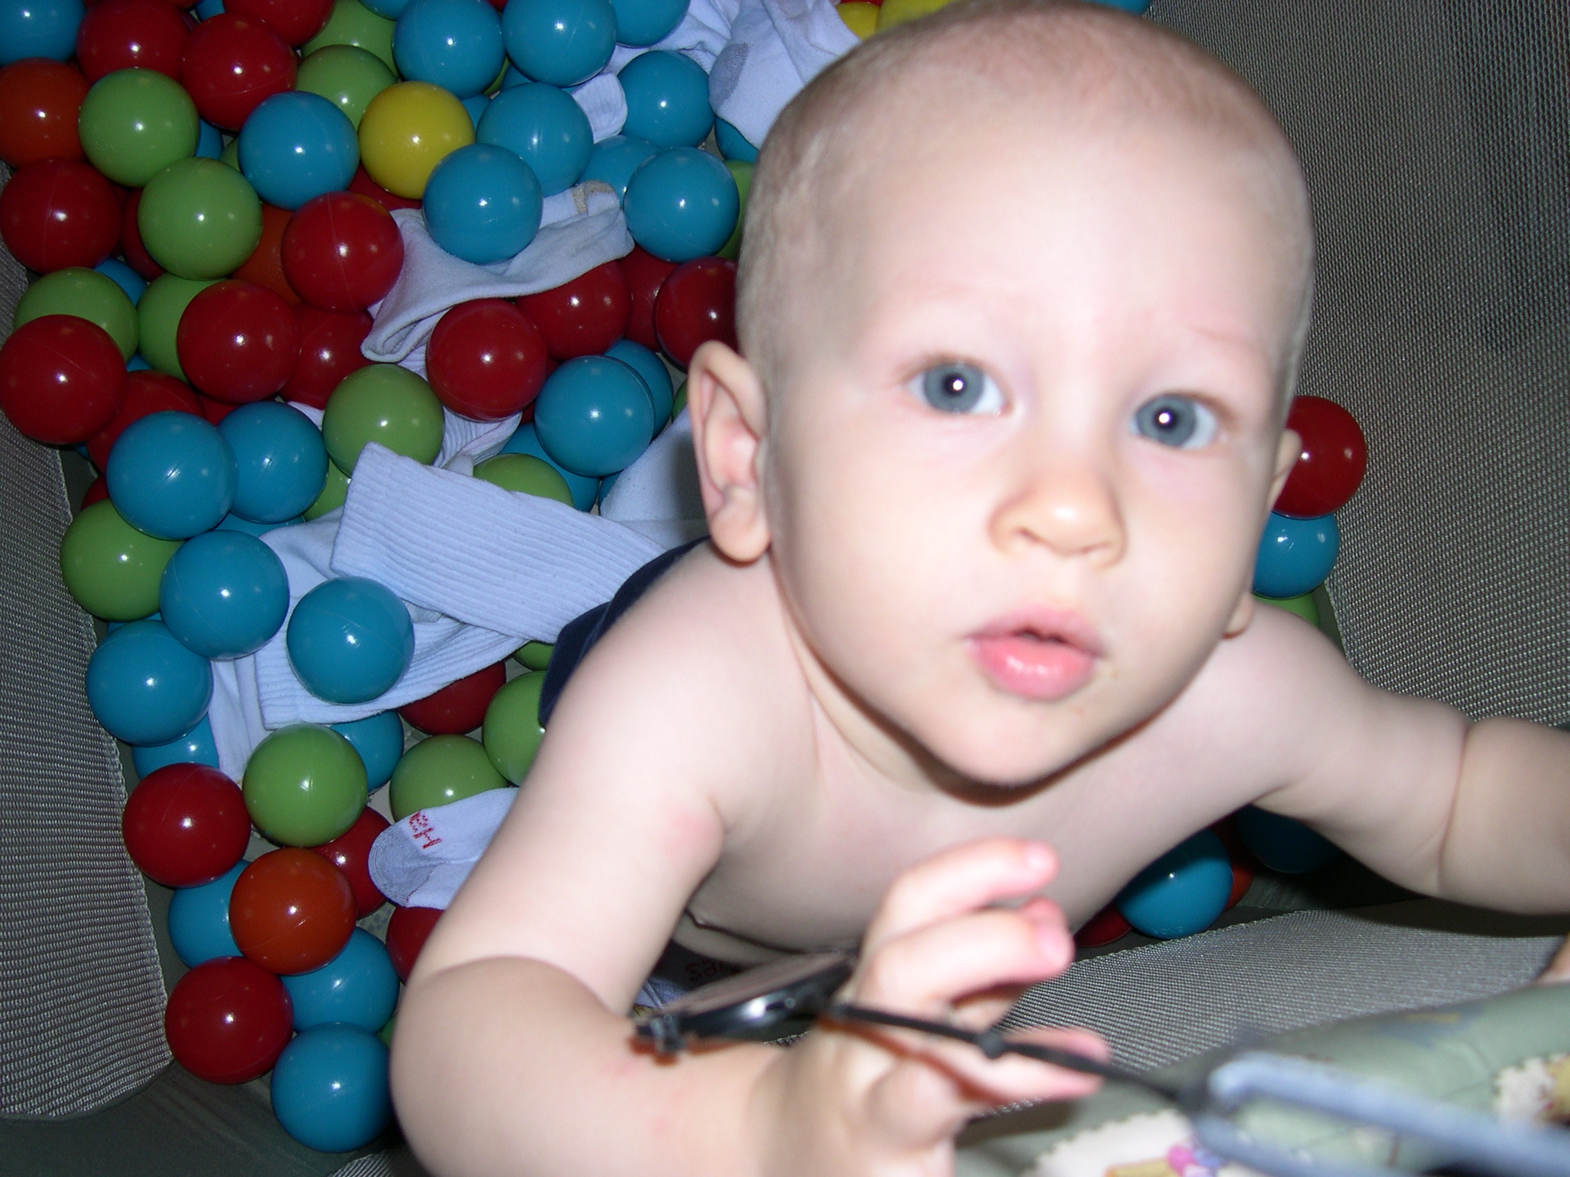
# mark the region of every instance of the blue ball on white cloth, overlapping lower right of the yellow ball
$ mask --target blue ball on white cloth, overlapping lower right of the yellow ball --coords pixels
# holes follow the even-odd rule
[[[430,173],[424,207],[436,245],[454,257],[490,265],[534,240],[545,201],[528,163],[506,148],[471,143]]]

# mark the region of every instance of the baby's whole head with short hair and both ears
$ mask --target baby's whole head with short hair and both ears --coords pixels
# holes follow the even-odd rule
[[[1251,617],[1309,264],[1281,130],[1151,24],[959,0],[809,85],[689,378],[835,720],[1024,783],[1174,698]]]

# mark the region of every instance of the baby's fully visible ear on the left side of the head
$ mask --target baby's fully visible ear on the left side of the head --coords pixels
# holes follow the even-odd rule
[[[710,538],[732,560],[750,563],[769,546],[760,469],[768,428],[763,384],[752,364],[708,342],[688,366],[688,405]]]

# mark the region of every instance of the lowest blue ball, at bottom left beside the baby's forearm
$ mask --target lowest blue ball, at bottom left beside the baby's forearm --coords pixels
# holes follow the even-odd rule
[[[308,1149],[358,1149],[392,1122],[388,1048],[360,1026],[312,1026],[278,1056],[272,1094],[278,1122]]]

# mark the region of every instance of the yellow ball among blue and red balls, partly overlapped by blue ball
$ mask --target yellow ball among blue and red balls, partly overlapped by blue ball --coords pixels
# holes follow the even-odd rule
[[[391,193],[418,201],[432,169],[474,141],[469,111],[429,82],[397,82],[360,119],[360,162]]]

